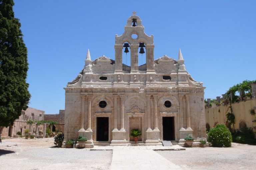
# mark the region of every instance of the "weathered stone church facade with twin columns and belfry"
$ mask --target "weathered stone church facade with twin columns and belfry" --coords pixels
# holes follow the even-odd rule
[[[115,60],[103,55],[92,61],[88,50],[84,68],[64,88],[64,140],[81,134],[87,147],[129,145],[134,128],[142,133],[138,142],[146,145],[182,143],[191,133],[206,137],[205,87],[187,72],[181,50],[178,60],[167,55],[155,60],[154,37],[145,34],[135,12],[124,29],[115,36]],[[130,66],[123,63],[123,50],[130,54]],[[146,56],[140,66],[138,53]]]

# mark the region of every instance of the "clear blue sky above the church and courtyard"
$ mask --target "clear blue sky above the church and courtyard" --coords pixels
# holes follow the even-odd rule
[[[83,69],[88,48],[92,60],[115,59],[115,35],[132,11],[154,35],[155,59],[177,59],[180,48],[187,71],[204,83],[205,98],[256,79],[255,0],[14,2],[28,48],[29,107],[46,114],[65,109],[63,87]]]

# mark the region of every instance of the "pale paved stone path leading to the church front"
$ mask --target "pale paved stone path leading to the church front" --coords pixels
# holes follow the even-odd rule
[[[174,151],[175,152],[175,151]],[[177,152],[177,151],[176,151]],[[182,170],[151,149],[113,149],[111,170]]]

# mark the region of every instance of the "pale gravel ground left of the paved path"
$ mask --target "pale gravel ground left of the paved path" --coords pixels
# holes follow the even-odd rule
[[[54,138],[4,139],[0,143],[0,169],[109,169],[112,150],[57,148]]]

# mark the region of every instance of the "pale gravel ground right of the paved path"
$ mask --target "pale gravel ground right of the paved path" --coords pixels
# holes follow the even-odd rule
[[[193,147],[180,151],[157,151],[184,170],[255,170],[256,146],[232,143],[229,148]]]

